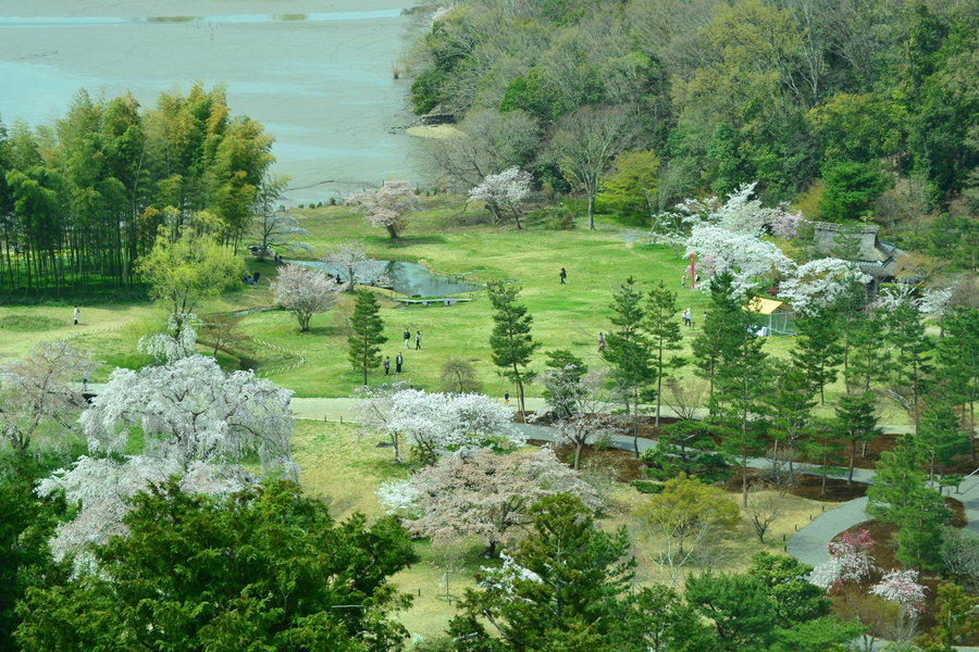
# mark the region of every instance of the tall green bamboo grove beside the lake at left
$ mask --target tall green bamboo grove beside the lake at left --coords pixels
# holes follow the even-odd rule
[[[136,260],[191,216],[236,247],[271,147],[200,84],[154,109],[80,90],[53,126],[0,123],[0,296],[139,285]]]

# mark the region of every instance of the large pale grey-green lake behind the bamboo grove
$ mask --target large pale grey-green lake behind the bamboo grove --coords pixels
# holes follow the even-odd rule
[[[2,0],[0,120],[62,117],[79,88],[153,105],[195,82],[227,85],[235,114],[275,137],[289,199],[325,201],[385,179],[427,183],[394,79],[424,18],[412,0]]]

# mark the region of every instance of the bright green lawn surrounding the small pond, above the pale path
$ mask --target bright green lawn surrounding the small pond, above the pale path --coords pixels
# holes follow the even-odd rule
[[[542,342],[533,368],[543,366],[548,350],[566,348],[593,365],[602,365],[597,353],[598,334],[611,328],[609,323],[611,294],[628,276],[633,276],[642,289],[664,280],[679,294],[679,308],[691,308],[694,329],[684,331],[685,344],[703,324],[706,296],[681,287],[685,261],[677,258],[666,246],[652,244],[637,227],[611,224],[598,218],[597,230],[578,228],[559,230],[546,224],[531,223],[517,230],[509,225],[491,225],[488,215],[464,206],[451,196],[424,198],[424,210],[417,213],[404,237],[392,241],[386,233],[371,228],[362,217],[344,206],[301,209],[297,213],[309,230],[314,253],[324,255],[331,248],[354,238],[362,238],[369,253],[381,260],[419,262],[437,274],[466,275],[485,283],[507,280],[522,288],[521,300],[534,317],[533,335]],[[269,280],[274,277],[271,263],[259,263],[246,256],[249,269],[262,272],[259,288],[230,292],[199,312],[245,311],[269,306]],[[558,272],[568,271],[568,285],[559,285]],[[382,300],[382,316],[387,343],[382,354],[394,360],[405,355],[402,379],[413,386],[439,389],[443,365],[460,359],[473,365],[490,396],[513,393],[491,361],[488,337],[492,330],[491,308],[485,292],[473,293],[475,301],[451,308],[410,308],[393,301],[386,290],[375,290]],[[92,351],[107,364],[94,379],[101,380],[114,366],[138,367],[148,362],[136,353],[139,337],[163,324],[162,311],[149,302],[121,305],[82,306],[82,325],[71,324],[71,305],[3,306],[0,305],[0,359],[23,354],[32,344],[45,339],[71,339],[78,347]],[[235,355],[220,354],[226,368],[253,367],[299,397],[350,396],[360,377],[347,361],[346,337],[352,301],[345,296],[331,312],[313,317],[310,331],[300,334],[295,317],[280,310],[249,314],[243,328],[252,341],[235,351]],[[405,351],[402,331],[422,331],[422,350]],[[784,355],[792,338],[769,338],[766,349],[773,355]],[[687,348],[689,352],[689,348]],[[682,372],[692,373],[690,368]],[[371,381],[381,381],[381,369]],[[529,396],[540,396],[542,389],[528,386]],[[842,392],[842,385],[828,389],[828,399]],[[906,417],[897,410],[882,415],[885,423],[902,423]]]

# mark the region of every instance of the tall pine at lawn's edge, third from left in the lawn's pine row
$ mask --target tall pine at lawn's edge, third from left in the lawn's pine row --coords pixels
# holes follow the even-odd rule
[[[612,294],[611,323],[618,330],[605,338],[602,356],[611,365],[611,379],[625,404],[625,414],[632,415],[632,442],[639,456],[640,392],[653,373],[649,366],[648,342],[640,331],[643,322],[643,294],[629,277]],[[631,404],[631,410],[630,410]]]

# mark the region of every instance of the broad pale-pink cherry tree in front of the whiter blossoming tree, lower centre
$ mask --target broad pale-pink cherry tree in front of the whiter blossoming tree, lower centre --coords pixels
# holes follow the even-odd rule
[[[545,496],[571,493],[592,509],[600,506],[595,490],[549,448],[447,455],[410,480],[382,485],[377,493],[389,511],[417,516],[404,521],[409,531],[442,542],[479,536],[491,556],[530,524],[528,510]]]

